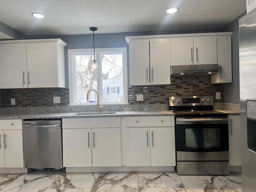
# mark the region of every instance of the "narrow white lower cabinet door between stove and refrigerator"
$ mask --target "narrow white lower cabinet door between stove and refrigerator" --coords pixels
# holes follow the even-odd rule
[[[241,166],[241,119],[240,115],[229,115],[229,165]]]

